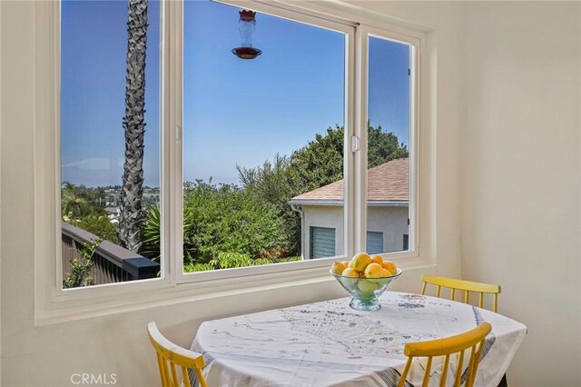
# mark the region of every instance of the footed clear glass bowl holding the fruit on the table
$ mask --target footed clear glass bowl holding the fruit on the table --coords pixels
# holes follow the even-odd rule
[[[354,278],[333,274],[333,277],[350,293],[349,306],[358,311],[377,311],[381,308],[379,296],[385,292],[391,283],[398,279],[401,269],[389,277]]]

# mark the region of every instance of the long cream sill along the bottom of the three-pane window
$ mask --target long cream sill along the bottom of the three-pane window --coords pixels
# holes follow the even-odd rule
[[[404,271],[432,266],[431,263],[419,257],[393,261]],[[163,280],[117,283],[112,286],[83,289],[86,292],[74,290],[62,297],[54,297],[53,303],[46,305],[44,310],[36,311],[34,325],[66,323],[179,303],[197,303],[206,300],[219,302],[221,299],[251,293],[260,294],[277,290],[286,290],[291,293],[292,289],[305,285],[327,286],[330,283],[335,283],[335,280],[329,274],[329,264],[325,264],[324,267],[191,283],[172,284]],[[123,293],[120,292],[120,286],[125,287]],[[97,293],[99,294],[96,295]],[[339,285],[337,285],[336,294],[337,297],[345,296]]]

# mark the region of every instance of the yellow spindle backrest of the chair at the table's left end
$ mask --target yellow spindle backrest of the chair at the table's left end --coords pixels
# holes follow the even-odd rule
[[[196,372],[198,382],[200,382],[202,387],[208,386],[202,374],[202,368],[205,363],[200,353],[188,351],[170,342],[162,335],[162,332],[157,329],[153,322],[147,324],[147,333],[155,352],[157,352],[157,364],[160,368],[162,387],[180,387],[182,385],[181,382],[183,382],[185,387],[191,387],[189,370]],[[178,375],[176,367],[180,368],[181,375]]]

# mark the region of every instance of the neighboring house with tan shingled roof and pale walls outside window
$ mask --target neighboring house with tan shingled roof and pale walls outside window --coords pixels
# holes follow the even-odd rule
[[[409,159],[391,160],[368,171],[367,252],[408,250]],[[301,216],[303,259],[343,254],[343,180],[295,196]]]

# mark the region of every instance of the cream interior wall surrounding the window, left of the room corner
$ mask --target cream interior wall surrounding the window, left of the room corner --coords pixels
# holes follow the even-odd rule
[[[438,129],[430,151],[435,189],[429,200],[438,215],[433,235],[438,265],[431,273],[460,275],[459,268],[459,129],[463,5],[450,3],[365,3],[400,20],[428,28],[429,50],[438,65],[429,90],[438,104],[430,114]],[[116,374],[116,385],[155,385],[153,350],[145,326],[156,321],[174,342],[189,346],[199,323],[225,315],[307,303],[343,295],[326,278],[320,283],[271,286],[228,297],[155,304],[68,323],[34,325],[34,5],[32,1],[0,2],[1,11],[1,293],[3,386],[72,385],[73,373]],[[37,123],[41,125],[42,123]],[[426,134],[436,136],[435,130]],[[42,253],[42,252],[38,252]],[[409,270],[395,290],[419,291],[419,274]],[[192,299],[195,294],[192,293]]]

